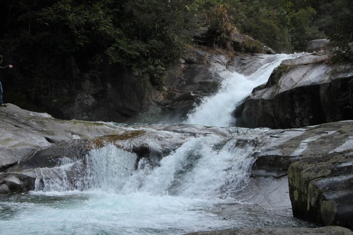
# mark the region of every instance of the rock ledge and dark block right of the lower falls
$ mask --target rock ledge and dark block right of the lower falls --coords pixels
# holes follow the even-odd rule
[[[288,170],[293,215],[352,229],[353,122],[287,129],[262,138],[254,176]]]

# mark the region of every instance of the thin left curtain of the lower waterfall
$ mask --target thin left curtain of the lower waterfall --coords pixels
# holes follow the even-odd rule
[[[108,144],[91,150],[84,159],[73,162],[64,158],[53,168],[37,168],[35,190],[70,191],[102,189],[116,191],[132,174],[136,154]]]

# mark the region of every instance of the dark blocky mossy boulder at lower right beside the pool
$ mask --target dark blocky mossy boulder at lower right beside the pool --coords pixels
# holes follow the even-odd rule
[[[310,137],[307,147],[311,151],[304,151],[300,161],[289,166],[293,214],[353,229],[353,126],[350,121],[337,122],[329,131],[328,126],[314,127],[315,132],[327,129],[327,134]],[[316,138],[319,146],[314,144]],[[336,148],[326,151],[329,145]]]

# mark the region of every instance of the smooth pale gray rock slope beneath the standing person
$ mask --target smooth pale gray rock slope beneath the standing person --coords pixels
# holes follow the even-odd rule
[[[0,112],[0,171],[60,141],[116,134],[101,122],[63,121],[8,104]]]

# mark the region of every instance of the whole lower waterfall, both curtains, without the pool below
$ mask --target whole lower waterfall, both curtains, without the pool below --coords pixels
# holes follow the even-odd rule
[[[36,190],[225,198],[246,185],[254,162],[253,144],[236,147],[236,142],[224,143],[215,135],[193,138],[164,157],[159,166],[142,159],[137,169],[136,154],[108,144],[90,150],[82,160],[64,159],[61,166],[36,169]]]

